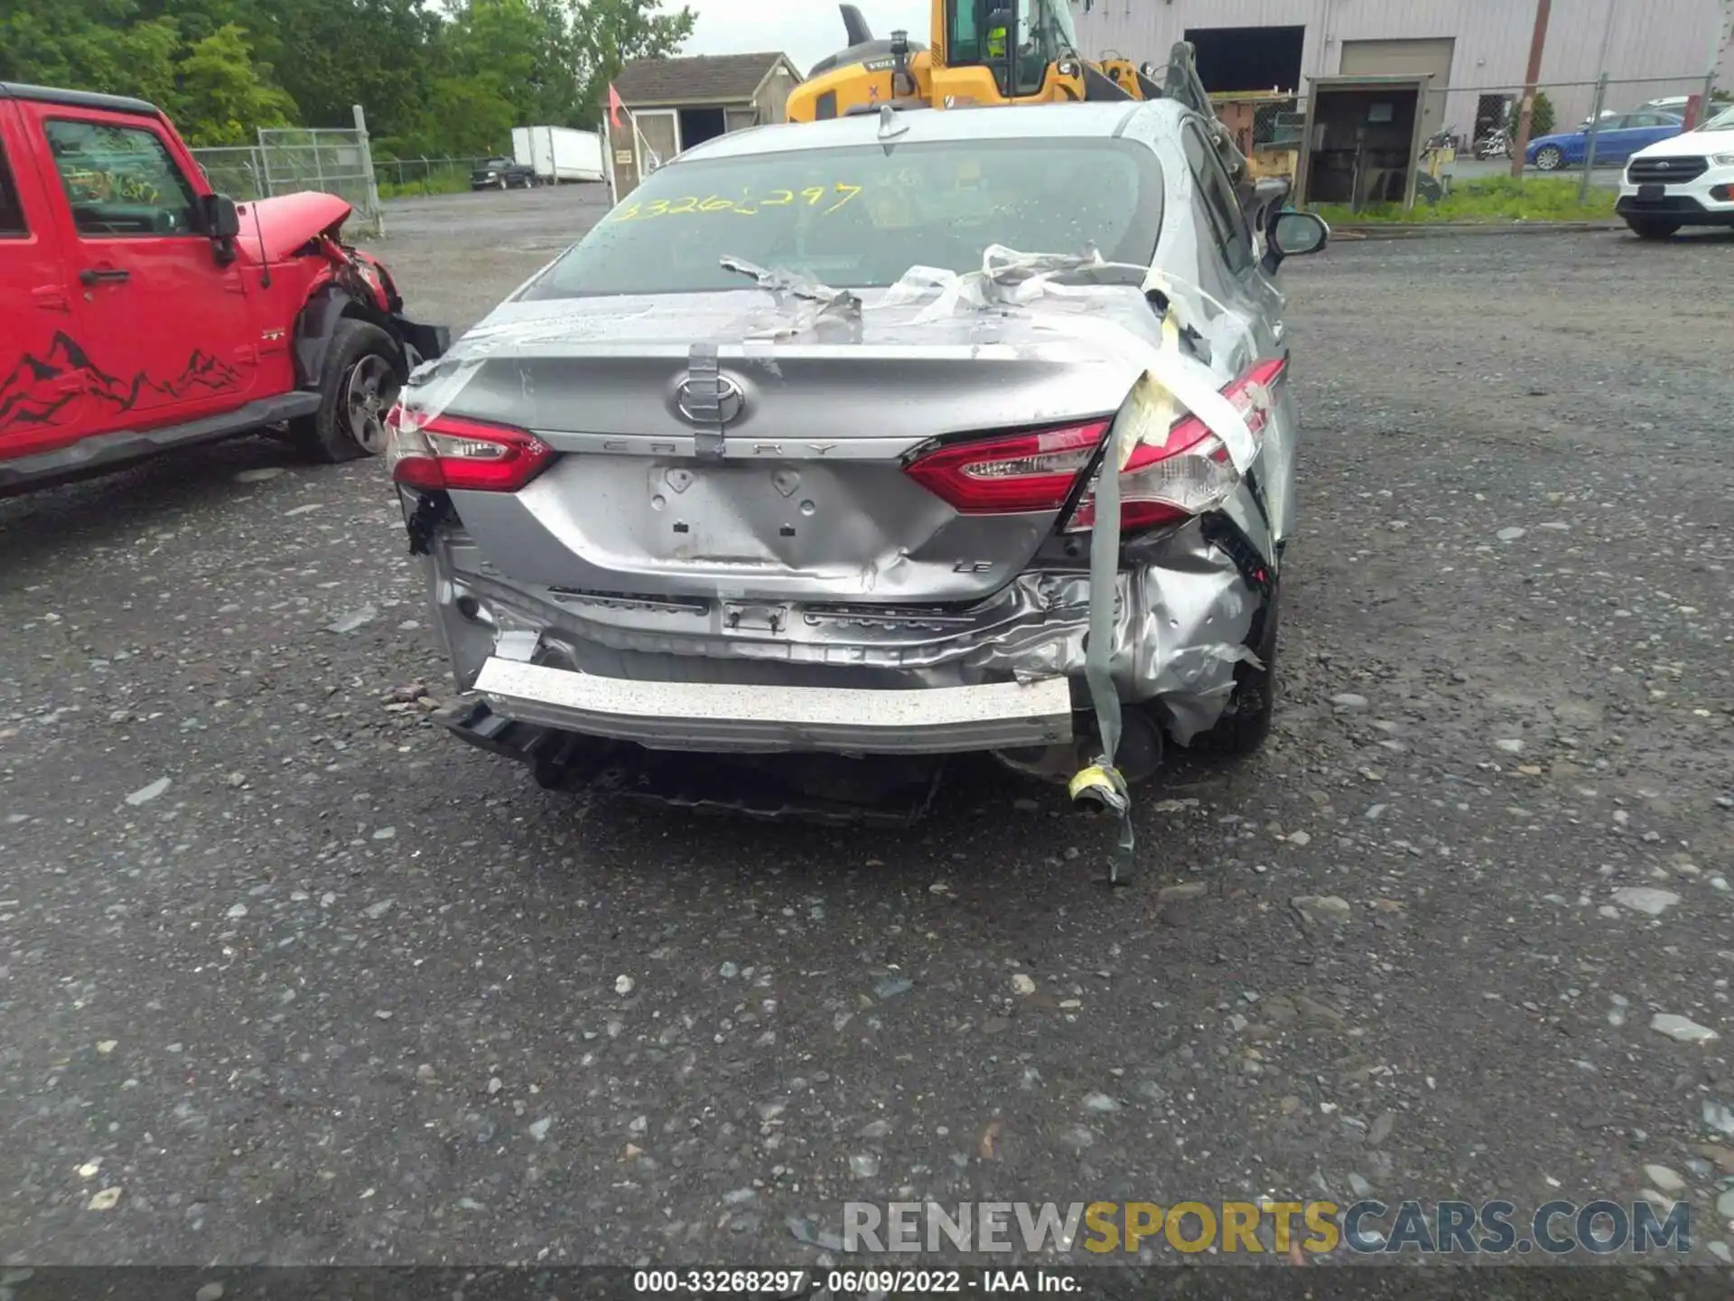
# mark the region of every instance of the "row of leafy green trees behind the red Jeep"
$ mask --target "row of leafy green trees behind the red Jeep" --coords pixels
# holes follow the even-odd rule
[[[595,125],[621,66],[692,23],[661,0],[0,0],[0,80],[139,95],[196,144],[361,104],[381,154],[484,153]]]

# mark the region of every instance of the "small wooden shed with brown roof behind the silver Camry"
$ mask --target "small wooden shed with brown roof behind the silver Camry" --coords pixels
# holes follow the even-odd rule
[[[603,106],[616,198],[636,189],[643,175],[681,149],[744,127],[786,121],[789,92],[799,80],[789,56],[775,52],[626,64],[614,78],[626,108],[619,125]]]

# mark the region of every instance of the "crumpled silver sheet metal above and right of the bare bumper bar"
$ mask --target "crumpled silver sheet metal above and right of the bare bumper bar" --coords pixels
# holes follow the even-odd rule
[[[460,680],[473,678],[496,652],[492,635],[456,612],[466,593],[487,604],[501,635],[531,631],[572,668],[614,677],[751,682],[763,673],[766,682],[825,685],[836,682],[827,677],[836,668],[850,668],[877,673],[884,685],[961,687],[1084,671],[1091,583],[1082,571],[1021,574],[969,626],[808,623],[796,607],[789,633],[742,637],[721,630],[720,607],[709,618],[635,612],[623,602],[586,604],[499,583],[477,572],[473,552],[461,546],[447,548],[439,569],[435,604]],[[1221,716],[1235,664],[1255,663],[1245,645],[1255,609],[1233,560],[1196,524],[1177,529],[1115,585],[1108,666],[1120,697],[1153,701],[1174,739],[1191,741]]]

